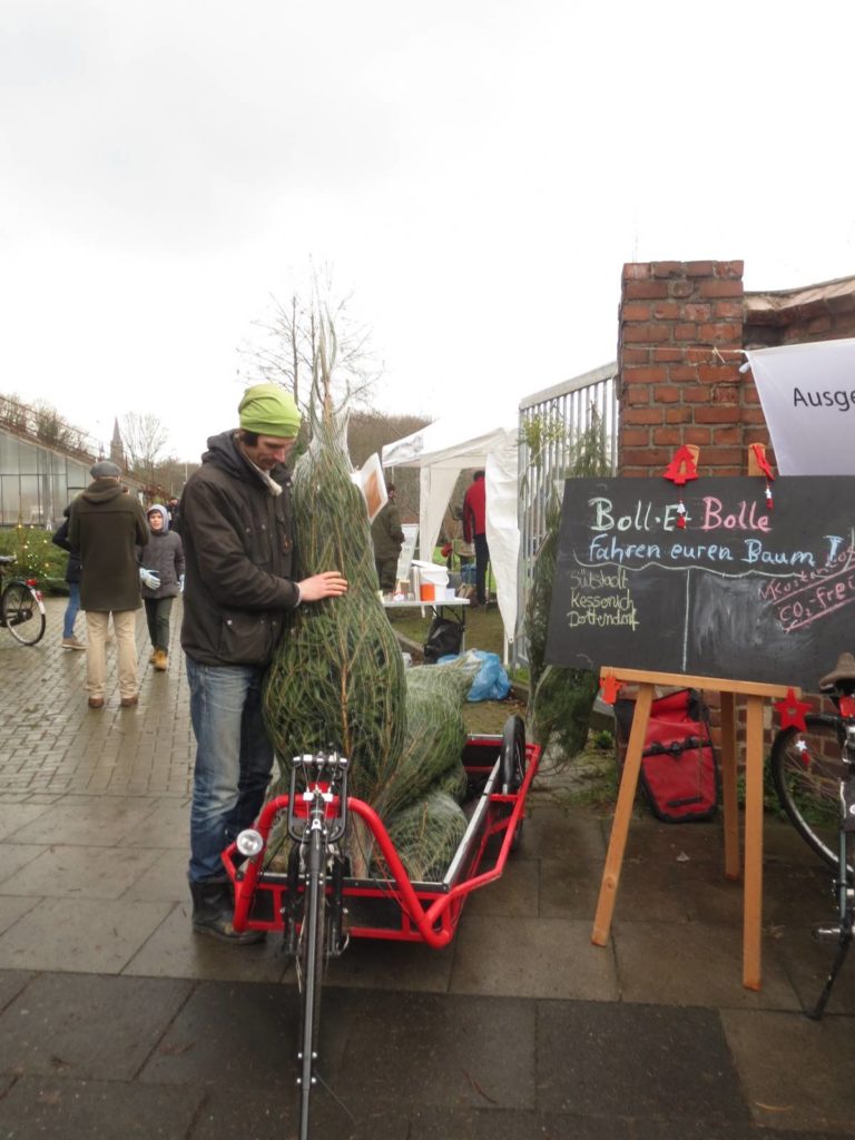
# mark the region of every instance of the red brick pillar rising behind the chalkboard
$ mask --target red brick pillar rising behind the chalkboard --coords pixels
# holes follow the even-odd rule
[[[744,474],[767,442],[750,377],[740,374],[741,261],[624,266],[618,366],[621,475],[658,475],[683,443],[699,473]]]

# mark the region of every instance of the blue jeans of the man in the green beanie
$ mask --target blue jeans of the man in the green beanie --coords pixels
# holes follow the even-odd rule
[[[222,852],[254,823],[274,748],[261,717],[263,669],[185,660],[196,736],[189,878],[198,882],[225,873]]]

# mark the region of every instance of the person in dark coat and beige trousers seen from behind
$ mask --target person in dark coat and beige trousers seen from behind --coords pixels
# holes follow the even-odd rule
[[[148,542],[142,507],[125,495],[115,463],[101,459],[91,469],[92,482],[72,503],[68,543],[80,556],[80,605],[87,616],[87,692],[89,707],[104,707],[107,676],[107,626],[119,652],[122,708],[131,708],[137,692],[137,610],[142,605],[137,548]]]

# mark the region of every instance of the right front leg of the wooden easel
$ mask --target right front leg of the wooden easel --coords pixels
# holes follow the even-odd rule
[[[763,922],[763,698],[747,698],[746,883],[742,930],[742,985],[760,988]]]

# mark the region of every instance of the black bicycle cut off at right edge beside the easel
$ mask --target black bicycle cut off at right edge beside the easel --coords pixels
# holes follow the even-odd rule
[[[772,779],[777,798],[808,846],[834,876],[837,922],[814,929],[836,942],[837,955],[808,1017],[822,1017],[846,960],[855,923],[855,658],[842,653],[820,691],[837,712],[808,712],[804,731],[783,728],[772,743]]]

